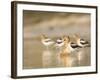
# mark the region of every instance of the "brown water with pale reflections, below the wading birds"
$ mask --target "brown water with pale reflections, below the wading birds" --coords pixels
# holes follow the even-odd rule
[[[90,66],[90,47],[61,54],[53,45],[47,50],[40,41],[24,41],[24,69]]]

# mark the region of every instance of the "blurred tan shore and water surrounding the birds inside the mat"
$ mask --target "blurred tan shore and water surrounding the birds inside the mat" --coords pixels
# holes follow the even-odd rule
[[[24,60],[23,68],[56,68],[90,66],[90,48],[75,54],[59,56],[55,48],[46,50],[40,35],[50,38],[78,34],[90,41],[91,15],[87,13],[23,11]]]

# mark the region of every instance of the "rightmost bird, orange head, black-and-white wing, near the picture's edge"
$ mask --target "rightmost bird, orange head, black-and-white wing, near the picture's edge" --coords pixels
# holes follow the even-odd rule
[[[78,46],[80,46],[82,48],[83,47],[90,47],[89,42],[80,38],[77,34],[74,35],[74,38],[76,39],[76,43],[77,43]]]

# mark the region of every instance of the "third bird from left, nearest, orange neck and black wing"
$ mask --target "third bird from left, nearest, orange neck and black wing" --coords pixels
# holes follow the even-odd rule
[[[71,42],[69,36],[64,37],[64,52],[71,53],[78,48],[80,48],[80,46]]]

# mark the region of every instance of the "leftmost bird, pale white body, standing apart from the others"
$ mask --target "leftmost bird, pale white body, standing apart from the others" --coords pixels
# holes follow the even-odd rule
[[[44,34],[41,35],[41,42],[42,42],[42,44],[43,44],[44,46],[46,46],[47,49],[48,49],[48,47],[49,47],[50,45],[52,45],[52,44],[55,43],[52,39],[48,38],[48,37],[47,37],[46,35],[44,35]]]

